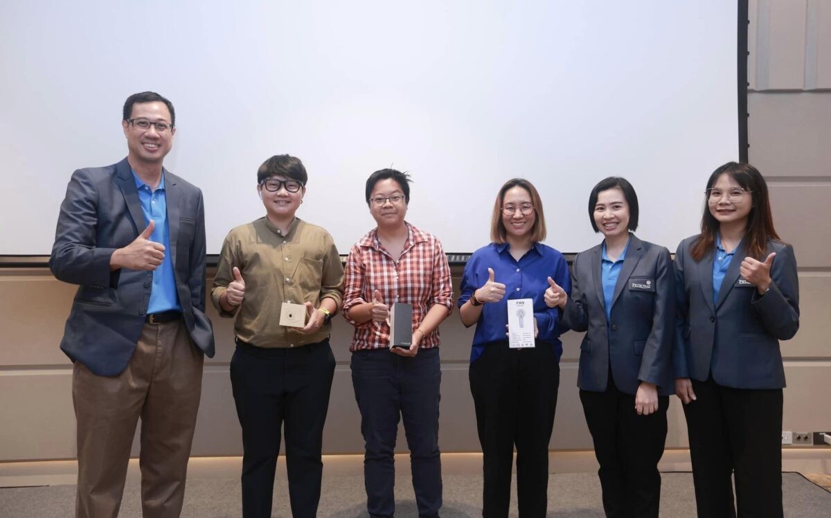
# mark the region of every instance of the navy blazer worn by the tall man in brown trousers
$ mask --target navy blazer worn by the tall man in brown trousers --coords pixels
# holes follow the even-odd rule
[[[214,356],[205,308],[205,229],[202,191],[165,170],[170,254],[176,292],[190,338]],[[66,188],[49,258],[52,274],[80,284],[66,320],[61,350],[91,372],[124,371],[145,323],[153,272],[110,271],[110,256],[145,229],[139,193],[127,159],[76,170]]]

